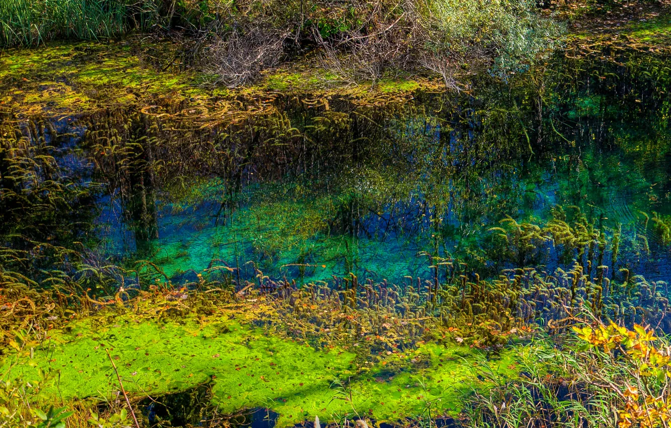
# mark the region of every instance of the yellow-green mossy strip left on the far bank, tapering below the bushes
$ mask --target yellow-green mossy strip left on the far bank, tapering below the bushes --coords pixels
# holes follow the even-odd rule
[[[442,85],[437,79],[421,76],[351,85],[339,82],[305,58],[266,70],[253,86],[226,89],[208,85],[209,76],[193,68],[180,68],[170,62],[175,50],[169,41],[140,44],[129,39],[0,52],[0,111],[20,119],[82,115],[115,106],[143,109],[160,105],[169,106],[170,113],[196,109],[221,114],[244,110],[240,99],[267,103],[278,93],[317,98],[348,95],[364,103],[390,103],[408,99],[419,89],[440,90]]]

